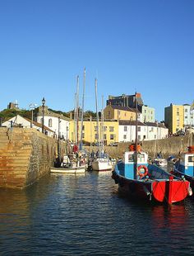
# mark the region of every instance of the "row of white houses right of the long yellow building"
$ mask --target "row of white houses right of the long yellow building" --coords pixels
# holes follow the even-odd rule
[[[169,134],[162,123],[142,123],[137,122],[137,140],[159,140],[164,139]],[[136,121],[119,121],[118,141],[135,142],[136,140]]]

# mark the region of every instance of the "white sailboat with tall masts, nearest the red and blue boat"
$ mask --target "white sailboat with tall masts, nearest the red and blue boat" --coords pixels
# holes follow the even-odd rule
[[[103,102],[103,101],[102,101]],[[103,105],[103,104],[102,104]],[[101,140],[99,141],[99,113],[98,113],[98,100],[97,100],[97,79],[95,79],[95,106],[96,106],[96,124],[97,124],[97,137],[99,150],[91,166],[95,171],[109,171],[112,170],[113,165],[109,159],[109,155],[104,153],[104,111],[102,106],[101,111]]]

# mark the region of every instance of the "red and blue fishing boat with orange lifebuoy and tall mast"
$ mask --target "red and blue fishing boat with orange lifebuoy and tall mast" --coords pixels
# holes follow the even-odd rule
[[[148,154],[137,143],[137,97],[136,97],[136,143],[129,146],[113,169],[112,178],[118,191],[135,200],[173,204],[192,195],[190,183],[178,178],[154,164],[148,164]]]

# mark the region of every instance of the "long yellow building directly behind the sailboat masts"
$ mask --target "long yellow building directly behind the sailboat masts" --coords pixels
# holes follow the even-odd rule
[[[76,125],[77,126],[77,125]],[[85,144],[96,144],[98,141],[102,141],[104,137],[104,145],[110,145],[114,142],[118,142],[118,121],[104,121],[104,131],[102,129],[102,123],[99,121],[99,140],[97,132],[96,121],[83,121],[83,141]],[[69,123],[69,140],[76,141],[76,128],[75,122],[72,120]],[[78,140],[81,139],[81,121],[78,124]]]

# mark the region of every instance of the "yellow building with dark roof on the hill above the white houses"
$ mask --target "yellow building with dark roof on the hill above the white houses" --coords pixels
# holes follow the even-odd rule
[[[136,120],[136,110],[131,107],[109,105],[104,108],[104,118],[110,120]]]

